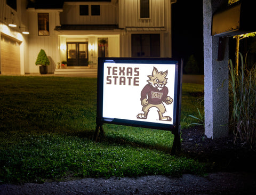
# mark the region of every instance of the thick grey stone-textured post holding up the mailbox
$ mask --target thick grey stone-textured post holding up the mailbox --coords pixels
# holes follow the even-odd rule
[[[219,37],[211,36],[212,15],[227,2],[203,0],[205,135],[212,139],[228,136],[228,38],[218,61]]]

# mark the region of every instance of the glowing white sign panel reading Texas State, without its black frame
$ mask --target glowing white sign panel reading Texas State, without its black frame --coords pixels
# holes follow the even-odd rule
[[[173,124],[176,64],[103,64],[102,117]]]

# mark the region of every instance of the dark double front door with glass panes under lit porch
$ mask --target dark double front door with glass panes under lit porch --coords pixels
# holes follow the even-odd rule
[[[67,66],[88,66],[87,42],[67,42]]]

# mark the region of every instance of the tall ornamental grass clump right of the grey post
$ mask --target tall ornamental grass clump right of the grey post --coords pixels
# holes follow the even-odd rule
[[[241,139],[251,148],[256,146],[256,67],[249,70],[245,67],[242,54],[242,67],[236,74],[235,67],[229,60],[229,98],[232,108],[231,127],[234,141]],[[246,58],[245,58],[246,62]]]

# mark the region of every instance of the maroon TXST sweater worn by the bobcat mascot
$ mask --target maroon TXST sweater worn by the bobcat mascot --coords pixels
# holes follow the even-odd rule
[[[163,87],[162,90],[158,90],[156,87],[147,84],[143,90],[141,91],[141,98],[140,100],[144,100],[145,98],[148,99],[148,103],[151,104],[161,104],[166,101],[168,94],[168,88]]]

